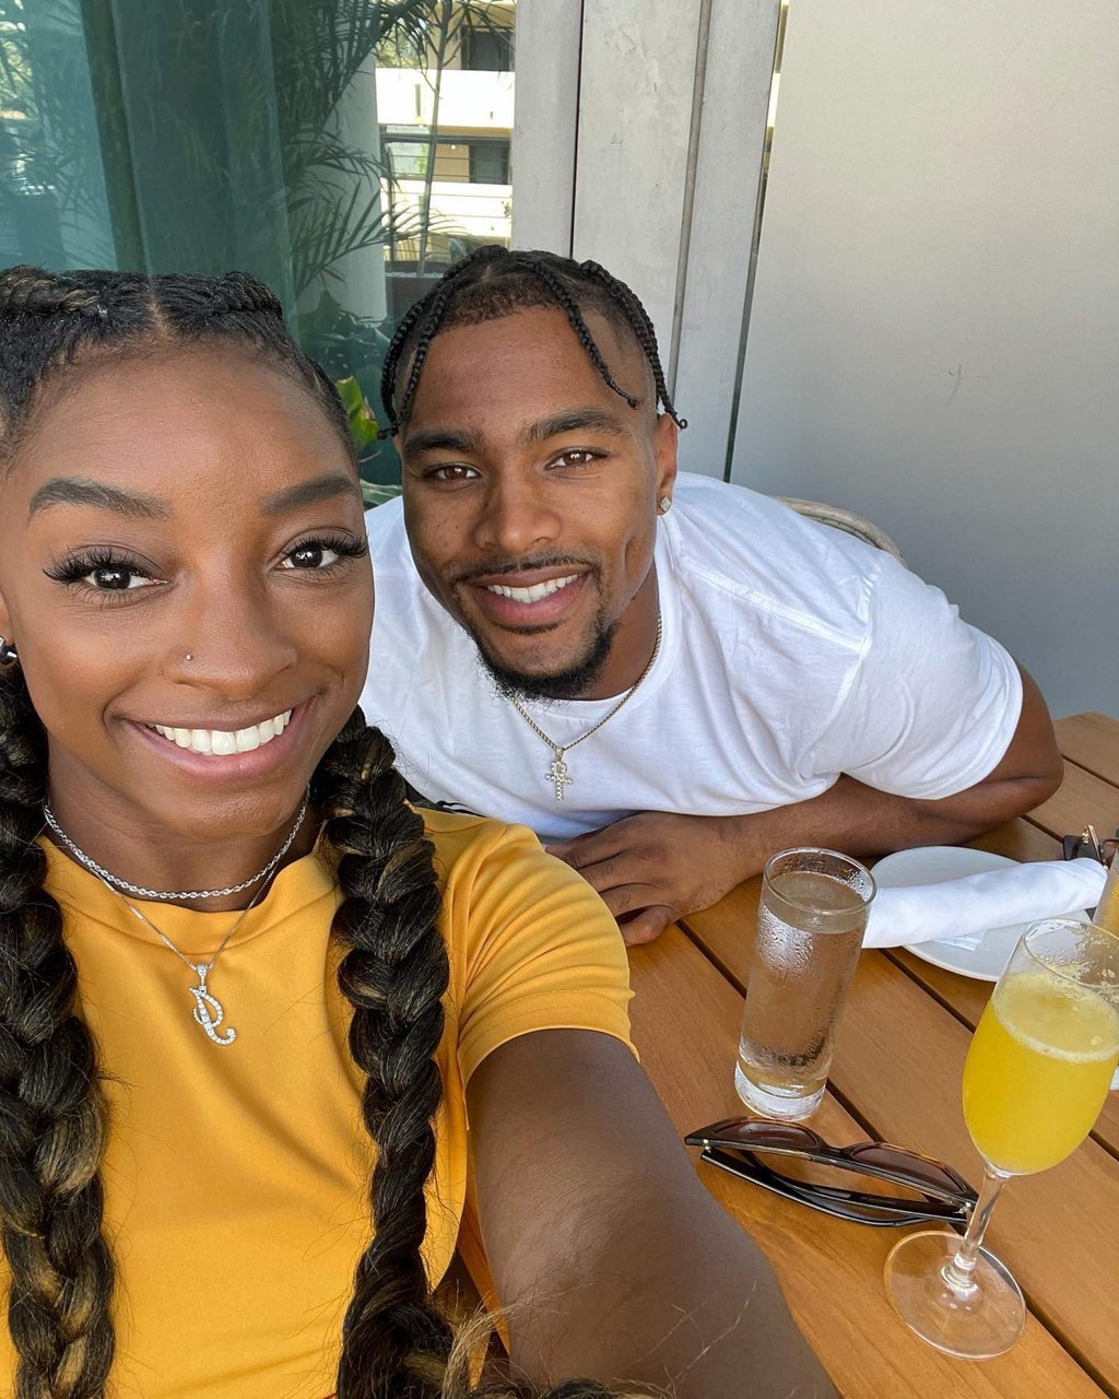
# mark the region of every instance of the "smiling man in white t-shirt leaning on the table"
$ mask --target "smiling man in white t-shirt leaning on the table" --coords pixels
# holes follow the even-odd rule
[[[652,326],[594,264],[473,255],[383,396],[403,502],[368,518],[366,716],[427,799],[533,827],[628,942],[776,849],[967,839],[1056,788],[1036,687],[939,589],[677,474]]]

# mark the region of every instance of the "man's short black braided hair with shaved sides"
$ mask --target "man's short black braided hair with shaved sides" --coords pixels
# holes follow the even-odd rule
[[[456,263],[400,322],[380,375],[380,402],[387,421],[382,436],[396,436],[407,422],[431,343],[442,330],[497,320],[533,306],[558,306],[606,386],[636,409],[641,399],[614,381],[583,312],[597,311],[631,334],[652,374],[656,404],[677,427],[688,425],[669,395],[649,313],[624,281],[596,262],[576,263],[558,253],[511,252],[499,243],[488,243]],[[404,365],[407,378],[397,402]]]

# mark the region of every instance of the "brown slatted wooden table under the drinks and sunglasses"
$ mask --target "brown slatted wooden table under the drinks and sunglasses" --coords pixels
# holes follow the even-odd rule
[[[1060,789],[1028,817],[974,844],[1018,860],[1060,859],[1060,837],[1119,827],[1119,722],[1057,722]],[[760,880],[634,949],[634,1039],[683,1135],[743,1107],[732,1083]],[[867,1137],[982,1165],[960,1107],[985,982],[901,950],[867,951],[843,1014],[829,1090],[813,1125],[829,1142]],[[705,1184],[765,1251],[789,1304],[845,1399],[1119,1396],[1119,1094],[1066,1161],[1011,1181],[988,1242],[1029,1307],[1025,1335],[997,1360],[951,1360],[906,1330],[883,1293],[898,1230],[834,1220],[697,1163]]]

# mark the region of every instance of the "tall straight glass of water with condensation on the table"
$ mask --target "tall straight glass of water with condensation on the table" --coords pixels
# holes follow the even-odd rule
[[[820,1105],[873,898],[870,872],[838,851],[767,862],[734,1069],[755,1112],[793,1122]]]

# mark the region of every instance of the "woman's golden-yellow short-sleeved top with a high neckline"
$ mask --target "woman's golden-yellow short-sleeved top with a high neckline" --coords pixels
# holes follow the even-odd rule
[[[529,831],[424,817],[450,957],[424,1244],[438,1281],[464,1213],[470,1074],[533,1030],[597,1030],[628,1044],[629,989],[606,908]],[[222,1048],[193,1018],[190,970],[98,879],[46,849],[106,1074],[111,1399],[325,1399],[371,1234],[373,1154],[334,981],[340,894],[329,865],[309,855],[281,870],[218,957],[220,1032],[236,1030]],[[236,918],[137,907],[200,963]],[[0,1322],[0,1395],[13,1393],[14,1367]]]

